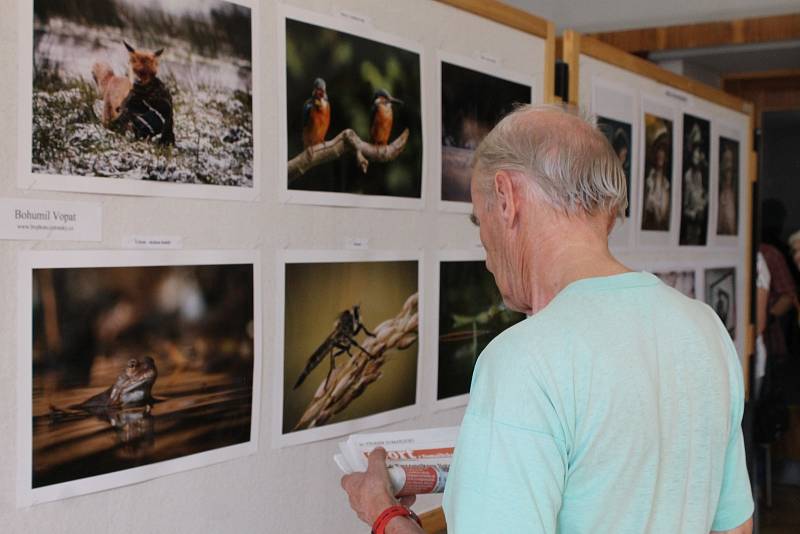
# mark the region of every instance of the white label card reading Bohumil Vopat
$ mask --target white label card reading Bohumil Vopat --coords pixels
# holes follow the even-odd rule
[[[98,203],[0,198],[0,239],[102,241]]]

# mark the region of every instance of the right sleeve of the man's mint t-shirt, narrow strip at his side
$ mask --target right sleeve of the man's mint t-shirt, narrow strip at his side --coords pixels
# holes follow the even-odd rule
[[[729,341],[729,339],[728,339]],[[731,435],[725,450],[725,465],[722,474],[722,489],[717,503],[717,512],[711,530],[731,530],[753,515],[753,495],[742,436],[742,414],[744,412],[744,384],[736,349],[728,343],[731,358],[735,360],[732,375]]]

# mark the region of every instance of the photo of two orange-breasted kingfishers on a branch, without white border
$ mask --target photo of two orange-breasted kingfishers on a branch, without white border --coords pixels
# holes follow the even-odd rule
[[[288,189],[421,198],[420,56],[286,19]]]

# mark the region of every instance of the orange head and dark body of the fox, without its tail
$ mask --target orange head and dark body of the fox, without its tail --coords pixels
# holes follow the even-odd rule
[[[122,103],[117,122],[133,128],[137,138],[161,136],[162,145],[174,145],[172,96],[167,86],[158,79],[158,58],[164,49],[150,52],[136,50],[123,41],[128,50],[133,87]]]

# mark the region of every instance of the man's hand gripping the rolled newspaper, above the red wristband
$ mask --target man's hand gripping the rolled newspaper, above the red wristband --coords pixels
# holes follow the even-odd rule
[[[363,473],[352,473],[342,477],[342,488],[350,498],[350,507],[366,524],[372,526],[378,516],[395,504],[410,506],[415,498],[401,497],[398,501],[389,482],[386,469],[386,449],[378,447],[369,456],[369,465]]]

